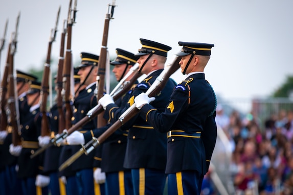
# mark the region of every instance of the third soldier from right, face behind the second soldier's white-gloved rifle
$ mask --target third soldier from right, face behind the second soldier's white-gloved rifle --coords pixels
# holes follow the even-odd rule
[[[116,49],[116,53],[116,59],[110,64],[114,65],[112,72],[114,72],[117,81],[120,81],[125,74],[127,74],[129,69],[137,62],[138,57],[120,48]],[[136,84],[137,83],[138,82],[136,82]],[[130,92],[131,90],[118,99],[115,104],[119,107],[126,105],[129,100]],[[110,118],[108,113],[105,112],[104,118],[106,120]],[[109,123],[105,127],[95,129],[93,131],[94,136],[99,137],[110,126],[111,124]],[[105,191],[108,195],[119,195],[122,193],[128,195],[133,194],[131,170],[123,167],[127,145],[127,135],[128,129],[120,128],[102,144],[103,160],[101,162],[101,171],[106,173]],[[66,139],[71,144],[81,144],[90,141],[92,136],[91,132],[81,134],[76,131]],[[99,170],[97,169],[96,172],[99,172]],[[98,182],[99,178],[96,177],[96,172],[94,173],[94,178]]]

